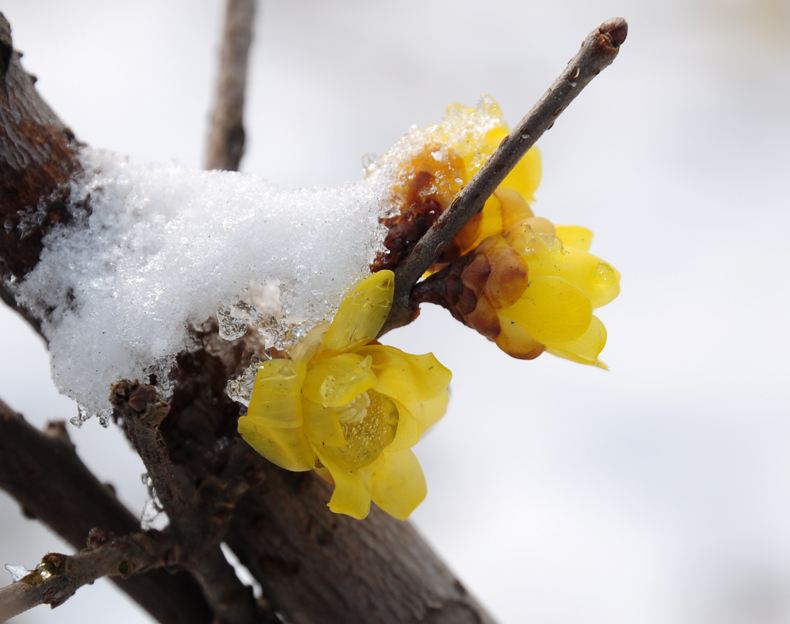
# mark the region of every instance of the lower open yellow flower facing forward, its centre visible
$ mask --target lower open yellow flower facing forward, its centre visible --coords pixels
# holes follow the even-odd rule
[[[392,306],[394,275],[379,271],[314,328],[289,359],[264,362],[239,433],[286,470],[335,484],[329,508],[364,518],[371,500],[405,520],[426,494],[411,447],[447,408],[451,373],[433,354],[375,338]]]

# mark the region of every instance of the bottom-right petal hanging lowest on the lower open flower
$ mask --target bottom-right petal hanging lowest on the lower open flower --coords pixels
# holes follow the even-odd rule
[[[420,462],[410,450],[387,453],[384,467],[373,473],[373,502],[398,520],[406,520],[428,491]]]

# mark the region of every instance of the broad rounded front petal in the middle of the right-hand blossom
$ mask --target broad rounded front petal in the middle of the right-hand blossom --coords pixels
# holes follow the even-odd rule
[[[592,319],[590,299],[561,277],[530,281],[516,305],[501,316],[521,325],[535,340],[548,345],[574,340],[587,331]]]

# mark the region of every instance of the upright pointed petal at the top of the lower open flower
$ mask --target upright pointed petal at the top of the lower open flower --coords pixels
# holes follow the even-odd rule
[[[359,284],[340,304],[320,351],[344,351],[378,336],[392,307],[395,274],[379,271]]]

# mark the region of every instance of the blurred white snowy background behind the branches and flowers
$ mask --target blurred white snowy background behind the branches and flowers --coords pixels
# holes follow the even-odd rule
[[[220,0],[0,10],[80,139],[202,165]],[[790,0],[265,0],[242,169],[283,188],[356,180],[363,154],[482,93],[515,124],[615,15],[628,40],[539,142],[533,206],[594,230],[622,272],[600,311],[611,372],[509,359],[443,310],[387,336],[454,373],[417,447],[414,522],[503,624],[790,622]],[[37,425],[75,415],[5,308],[0,354],[4,401]],[[70,434],[142,510],[120,431]],[[2,564],[68,551],[3,492],[0,527]],[[15,621],[108,617],[148,621],[107,581]]]

